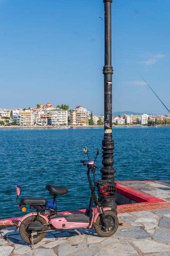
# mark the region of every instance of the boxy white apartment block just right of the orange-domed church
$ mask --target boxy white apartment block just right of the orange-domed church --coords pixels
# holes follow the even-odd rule
[[[51,110],[51,125],[67,125],[68,112],[62,109]]]

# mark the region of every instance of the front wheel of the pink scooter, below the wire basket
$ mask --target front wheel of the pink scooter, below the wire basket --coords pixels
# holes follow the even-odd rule
[[[98,233],[98,235],[101,237],[110,237],[118,229],[118,225],[119,225],[118,217],[114,212],[108,210],[108,211],[104,211],[104,218],[108,228],[105,229],[103,227],[101,216],[99,215],[96,219],[95,230],[96,230],[96,233]]]

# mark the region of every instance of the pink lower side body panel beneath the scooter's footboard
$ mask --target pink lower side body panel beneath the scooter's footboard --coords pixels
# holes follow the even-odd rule
[[[89,225],[89,222],[68,222],[64,217],[52,218],[50,222],[56,229],[86,228]]]

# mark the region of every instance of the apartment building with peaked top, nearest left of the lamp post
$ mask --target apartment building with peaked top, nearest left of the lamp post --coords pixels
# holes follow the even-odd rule
[[[90,112],[78,105],[70,111],[70,125],[88,125]]]

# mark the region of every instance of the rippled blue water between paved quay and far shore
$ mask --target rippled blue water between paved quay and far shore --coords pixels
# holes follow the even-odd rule
[[[15,201],[15,185],[23,197],[50,199],[46,184],[65,185],[57,197],[58,211],[88,206],[89,186],[83,146],[102,167],[103,128],[0,129],[0,219],[24,215]],[[147,133],[148,132],[148,133]],[[114,127],[115,180],[169,179],[170,127]],[[100,179],[100,171],[96,178]],[[29,212],[29,211],[28,211]]]

